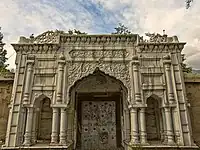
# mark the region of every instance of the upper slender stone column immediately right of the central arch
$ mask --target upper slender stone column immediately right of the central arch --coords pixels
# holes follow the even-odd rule
[[[135,102],[141,102],[141,91],[140,91],[140,80],[139,80],[139,61],[138,56],[133,57],[133,81],[134,81],[134,90],[135,90]]]

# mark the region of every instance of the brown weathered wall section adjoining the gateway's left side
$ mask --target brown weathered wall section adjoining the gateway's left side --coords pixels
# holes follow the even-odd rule
[[[0,145],[5,140],[14,74],[0,77]]]

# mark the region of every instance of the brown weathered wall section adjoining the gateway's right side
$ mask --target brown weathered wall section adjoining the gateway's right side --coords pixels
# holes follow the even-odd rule
[[[200,145],[200,75],[185,76],[194,141]]]

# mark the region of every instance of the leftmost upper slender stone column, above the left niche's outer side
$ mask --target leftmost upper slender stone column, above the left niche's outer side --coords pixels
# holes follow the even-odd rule
[[[24,97],[23,97],[23,103],[29,104],[29,92],[31,88],[31,77],[33,74],[33,65],[34,65],[34,56],[27,57],[27,73],[26,73],[26,80],[25,80],[25,86],[24,86]]]

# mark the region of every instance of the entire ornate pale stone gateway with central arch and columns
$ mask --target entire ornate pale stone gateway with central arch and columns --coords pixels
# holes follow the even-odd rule
[[[184,45],[167,35],[20,37],[2,149],[197,148]]]

